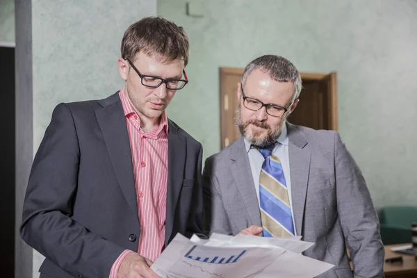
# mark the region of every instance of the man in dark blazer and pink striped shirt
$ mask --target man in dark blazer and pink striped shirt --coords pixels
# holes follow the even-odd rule
[[[59,104],[33,161],[22,238],[40,277],[158,277],[177,233],[202,231],[202,145],[165,115],[188,82],[188,38],[161,17],[124,33],[125,87]]]

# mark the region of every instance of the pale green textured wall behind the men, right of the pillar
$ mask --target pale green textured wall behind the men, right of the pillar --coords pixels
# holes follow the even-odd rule
[[[158,15],[190,36],[190,83],[168,115],[220,150],[219,67],[263,54],[302,72],[338,72],[341,135],[375,206],[416,204],[417,1],[158,0]]]

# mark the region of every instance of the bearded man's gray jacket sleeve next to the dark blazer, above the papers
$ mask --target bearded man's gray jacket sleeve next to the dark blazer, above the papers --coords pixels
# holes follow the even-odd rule
[[[213,232],[231,235],[231,228],[220,193],[220,186],[214,174],[214,156],[206,159],[203,172],[204,233]]]

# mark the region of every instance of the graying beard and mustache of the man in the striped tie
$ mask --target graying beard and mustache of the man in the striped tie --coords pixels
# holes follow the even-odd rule
[[[270,145],[275,145],[275,142],[277,142],[277,139],[281,135],[282,129],[284,129],[284,124],[286,124],[287,117],[284,116],[282,118],[281,123],[279,124],[277,129],[272,129],[266,122],[261,122],[258,120],[248,120],[246,122],[243,122],[242,116],[240,115],[241,111],[241,105],[239,103],[238,110],[236,111],[236,126],[240,131],[240,134],[247,140],[247,142],[250,142],[251,145],[254,145],[256,147],[268,147]],[[267,129],[266,136],[260,136],[260,134],[254,133],[254,135],[250,136],[246,133],[245,129],[250,124],[253,124],[254,126],[259,126],[263,129]]]

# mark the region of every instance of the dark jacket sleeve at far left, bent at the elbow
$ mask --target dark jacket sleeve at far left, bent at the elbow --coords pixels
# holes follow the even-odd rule
[[[72,113],[66,104],[59,104],[33,161],[20,234],[74,277],[108,277],[124,248],[72,219],[79,163]]]

